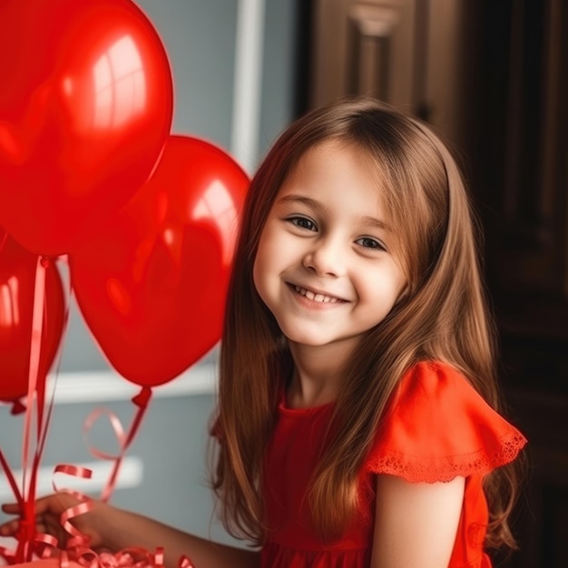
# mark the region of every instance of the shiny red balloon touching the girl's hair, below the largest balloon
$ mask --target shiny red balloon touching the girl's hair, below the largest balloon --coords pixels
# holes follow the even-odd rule
[[[227,153],[171,136],[151,180],[69,256],[83,318],[122,377],[161,385],[218,342],[248,187]]]

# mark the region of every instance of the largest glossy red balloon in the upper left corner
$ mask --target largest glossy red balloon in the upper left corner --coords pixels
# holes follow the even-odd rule
[[[0,2],[0,224],[64,254],[150,177],[171,71],[131,0]]]

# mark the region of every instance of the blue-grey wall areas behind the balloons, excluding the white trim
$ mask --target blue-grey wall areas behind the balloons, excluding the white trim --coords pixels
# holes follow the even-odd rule
[[[229,151],[238,0],[137,1],[157,28],[171,60],[175,90],[172,132],[198,136]],[[292,118],[295,16],[296,0],[267,0],[259,156]],[[79,373],[76,377],[80,381],[84,371],[111,370],[72,299],[60,372],[71,377]],[[93,461],[82,425],[99,404],[91,402],[85,392],[84,402],[54,406],[43,460],[46,467]],[[130,400],[103,406],[116,412],[125,426],[130,423]],[[142,460],[142,485],[117,490],[113,503],[203,536],[226,539],[219,526],[210,523],[205,447],[212,406],[211,395],[153,400],[129,452]],[[17,469],[21,466],[23,416],[10,416],[8,410],[0,407],[0,447]],[[108,445],[112,437],[103,436],[104,443]],[[64,480],[58,482],[64,485]],[[0,514],[0,522],[3,518]]]

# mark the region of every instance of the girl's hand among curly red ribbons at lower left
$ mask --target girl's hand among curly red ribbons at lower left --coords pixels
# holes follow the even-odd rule
[[[67,533],[61,524],[61,515],[71,507],[80,504],[81,501],[67,493],[55,493],[42,497],[35,502],[35,530],[38,533],[51,534],[57,539],[59,548],[65,548],[72,535]],[[85,514],[80,514],[70,523],[82,534],[89,537],[87,544],[94,551],[103,547],[102,534],[97,526],[104,526],[103,509],[106,505],[93,501],[93,509]],[[2,511],[6,514],[21,514],[18,504],[3,504]],[[0,525],[1,536],[15,536],[20,525],[19,519],[13,519]]]

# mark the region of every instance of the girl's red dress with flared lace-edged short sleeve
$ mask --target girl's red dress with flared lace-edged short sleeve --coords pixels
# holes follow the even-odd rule
[[[499,416],[453,367],[420,363],[403,378],[361,472],[361,504],[338,542],[322,543],[309,523],[304,491],[318,460],[333,405],[279,406],[265,458],[269,535],[262,568],[369,566],[377,474],[409,482],[465,477],[465,497],[449,568],[490,568],[484,553],[488,510],[483,475],[514,459],[524,436]]]

